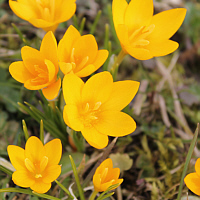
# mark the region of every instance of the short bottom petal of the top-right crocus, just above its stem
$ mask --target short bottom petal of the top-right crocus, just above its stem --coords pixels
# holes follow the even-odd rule
[[[153,54],[148,49],[134,48],[132,46],[126,46],[125,48],[128,54],[138,60],[149,60],[153,58]]]

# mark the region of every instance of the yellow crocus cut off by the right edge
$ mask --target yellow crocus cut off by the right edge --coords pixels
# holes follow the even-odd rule
[[[193,193],[200,196],[200,158],[195,163],[195,171],[194,173],[188,174],[184,182]]]

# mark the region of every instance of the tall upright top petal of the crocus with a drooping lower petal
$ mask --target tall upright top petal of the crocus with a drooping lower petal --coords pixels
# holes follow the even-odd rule
[[[57,42],[53,32],[49,31],[43,38],[40,52],[43,54],[45,59],[50,60],[55,68],[56,73],[58,73],[58,52],[57,52]]]

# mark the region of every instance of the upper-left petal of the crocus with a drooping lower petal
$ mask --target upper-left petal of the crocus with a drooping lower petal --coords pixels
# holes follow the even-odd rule
[[[21,49],[22,60],[25,67],[31,74],[37,76],[38,72],[35,70],[35,66],[44,66],[44,56],[40,51],[29,46],[24,46]]]

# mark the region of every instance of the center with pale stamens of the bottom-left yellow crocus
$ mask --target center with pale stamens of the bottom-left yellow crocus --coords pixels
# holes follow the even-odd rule
[[[28,158],[26,158],[24,162],[28,171],[31,172],[35,178],[38,179],[42,178],[43,171],[45,170],[48,164],[48,157],[43,156],[42,160],[39,163],[33,163]]]

